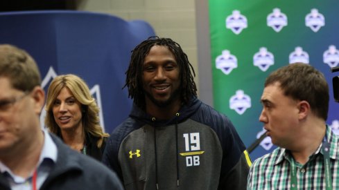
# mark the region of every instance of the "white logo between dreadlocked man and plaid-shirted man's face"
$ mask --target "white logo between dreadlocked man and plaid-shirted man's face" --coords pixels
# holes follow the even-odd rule
[[[233,109],[239,115],[242,115],[247,108],[251,107],[251,98],[245,95],[243,90],[236,91],[236,95],[233,95],[229,99],[229,108]]]

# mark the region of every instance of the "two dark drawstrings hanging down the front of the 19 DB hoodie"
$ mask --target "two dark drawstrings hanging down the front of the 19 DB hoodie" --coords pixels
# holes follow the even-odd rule
[[[175,151],[177,155],[176,164],[177,164],[177,187],[179,187],[179,153],[178,153],[178,143],[177,143],[177,117],[180,113],[175,113]],[[152,121],[155,122],[155,117],[152,117]],[[154,152],[155,152],[155,186],[159,190],[158,183],[158,162],[157,162],[157,135],[154,126]]]

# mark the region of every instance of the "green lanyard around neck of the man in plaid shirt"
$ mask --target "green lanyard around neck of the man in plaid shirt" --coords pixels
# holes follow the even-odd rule
[[[325,184],[326,189],[332,189],[332,178],[331,178],[331,169],[329,161],[329,143],[327,142],[327,135],[324,136],[322,140],[322,153],[324,154],[324,167],[325,167]],[[297,167],[295,167],[295,162],[290,162],[290,177],[291,177],[291,187],[290,189],[297,189]]]

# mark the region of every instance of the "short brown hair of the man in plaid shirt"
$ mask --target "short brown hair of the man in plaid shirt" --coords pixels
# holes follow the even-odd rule
[[[266,78],[265,87],[280,83],[284,95],[305,100],[315,115],[327,120],[329,111],[329,85],[322,73],[309,64],[288,64]]]

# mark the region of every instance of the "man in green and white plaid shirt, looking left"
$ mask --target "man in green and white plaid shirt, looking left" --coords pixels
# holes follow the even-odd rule
[[[279,68],[265,82],[259,117],[279,146],[252,164],[247,189],[339,189],[338,137],[327,126],[329,86],[308,64]]]

